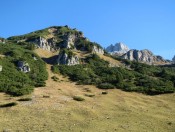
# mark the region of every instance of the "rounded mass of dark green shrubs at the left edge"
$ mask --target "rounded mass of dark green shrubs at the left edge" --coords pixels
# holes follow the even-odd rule
[[[14,96],[29,94],[34,87],[44,86],[48,77],[45,62],[43,62],[31,50],[27,50],[16,44],[0,44],[0,92],[6,92]],[[33,56],[37,58],[34,60]],[[24,73],[18,70],[18,61],[29,64],[31,71]]]

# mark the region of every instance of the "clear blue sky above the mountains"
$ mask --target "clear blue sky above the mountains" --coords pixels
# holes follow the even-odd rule
[[[175,55],[175,0],[2,0],[0,36],[69,25],[106,47],[123,42],[131,49]]]

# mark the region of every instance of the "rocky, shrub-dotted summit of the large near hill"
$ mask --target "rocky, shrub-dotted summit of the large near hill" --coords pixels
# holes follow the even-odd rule
[[[8,38],[8,41],[21,45],[34,44],[34,48],[59,52],[55,59],[57,64],[79,64],[78,52],[104,54],[99,44],[89,41],[81,31],[71,29],[67,25],[52,26],[26,35],[13,36]]]

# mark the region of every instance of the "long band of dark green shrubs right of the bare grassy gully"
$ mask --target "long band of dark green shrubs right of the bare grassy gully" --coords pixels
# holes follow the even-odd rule
[[[151,66],[120,60],[126,67],[109,67],[108,62],[93,54],[86,64],[53,66],[55,73],[67,75],[78,84],[92,84],[102,89],[120,88],[155,95],[175,91],[175,67]]]

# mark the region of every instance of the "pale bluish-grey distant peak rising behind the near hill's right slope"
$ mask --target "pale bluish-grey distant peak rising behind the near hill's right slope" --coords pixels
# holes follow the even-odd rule
[[[121,56],[129,51],[128,46],[123,43],[116,43],[115,45],[110,45],[106,48],[106,51],[112,55]]]

